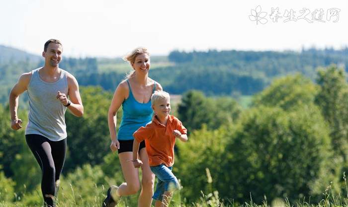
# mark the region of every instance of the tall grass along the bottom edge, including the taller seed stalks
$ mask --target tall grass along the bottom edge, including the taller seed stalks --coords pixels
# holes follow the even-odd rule
[[[206,168],[207,182],[212,183],[209,169]],[[219,192],[214,191],[212,188],[210,193],[204,194],[200,191],[201,197],[198,201],[187,204],[185,200],[181,200],[181,195],[179,191],[176,191],[173,195],[170,207],[348,207],[348,186],[346,173],[343,174],[343,179],[345,181],[347,194],[335,194],[332,191],[332,183],[323,192],[323,199],[318,203],[311,203],[310,198],[308,201],[303,199],[296,203],[291,204],[287,199],[274,199],[271,203],[268,203],[267,198],[261,204],[250,201],[246,201],[243,204],[235,203],[233,200],[223,200],[219,197]],[[66,185],[67,186],[67,185]],[[94,185],[92,192],[95,194],[90,195],[88,202],[79,195],[79,193],[74,189],[74,187],[69,184],[69,188],[60,188],[59,196],[57,198],[57,207],[100,207],[102,201],[106,197],[106,188],[103,185]],[[231,192],[233,195],[233,192]],[[130,205],[129,199],[134,199],[135,197],[123,197],[117,204],[117,207],[133,207]],[[36,189],[30,194],[25,192],[19,195],[15,195],[16,201],[14,203],[0,201],[0,207],[42,207],[42,195],[41,190]],[[134,204],[134,202],[132,202]],[[154,202],[153,202],[154,203]]]

